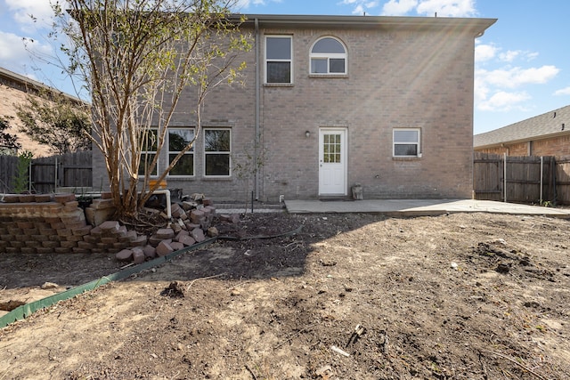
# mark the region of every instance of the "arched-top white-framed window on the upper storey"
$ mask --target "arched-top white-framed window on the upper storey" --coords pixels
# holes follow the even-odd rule
[[[311,47],[311,74],[346,74],[346,47],[337,38],[325,36]]]

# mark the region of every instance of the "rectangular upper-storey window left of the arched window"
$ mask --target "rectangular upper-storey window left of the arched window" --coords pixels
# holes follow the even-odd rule
[[[265,83],[293,83],[292,36],[265,36]]]

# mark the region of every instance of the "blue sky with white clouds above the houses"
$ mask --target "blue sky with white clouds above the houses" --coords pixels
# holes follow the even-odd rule
[[[0,67],[76,94],[53,56],[50,0],[0,0]],[[475,133],[570,104],[567,0],[238,0],[242,13],[481,17],[499,19],[476,39]],[[32,22],[29,14],[37,19]],[[22,37],[32,38],[28,50]],[[1,110],[0,110],[1,113]]]

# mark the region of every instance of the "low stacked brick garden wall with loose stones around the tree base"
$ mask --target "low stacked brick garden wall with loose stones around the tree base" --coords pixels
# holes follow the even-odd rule
[[[87,208],[94,210],[90,216],[99,219],[94,227],[85,220],[74,194],[6,195],[0,203],[0,253],[118,254],[129,250],[130,259],[139,262],[203,241],[205,231],[210,237],[217,234],[211,227],[215,206],[198,209],[195,202],[172,204],[175,222],[147,239],[117,221],[103,222],[113,211],[111,203],[108,198],[95,199]]]

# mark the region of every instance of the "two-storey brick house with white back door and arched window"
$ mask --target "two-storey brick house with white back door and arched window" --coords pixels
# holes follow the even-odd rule
[[[168,188],[242,199],[235,165],[258,146],[264,166],[249,190],[265,202],[350,197],[355,183],[365,198],[471,197],[475,38],[496,20],[247,19],[245,85],[208,95],[204,129]],[[193,136],[188,115],[176,114],[173,141]],[[94,158],[94,183],[103,167]]]

